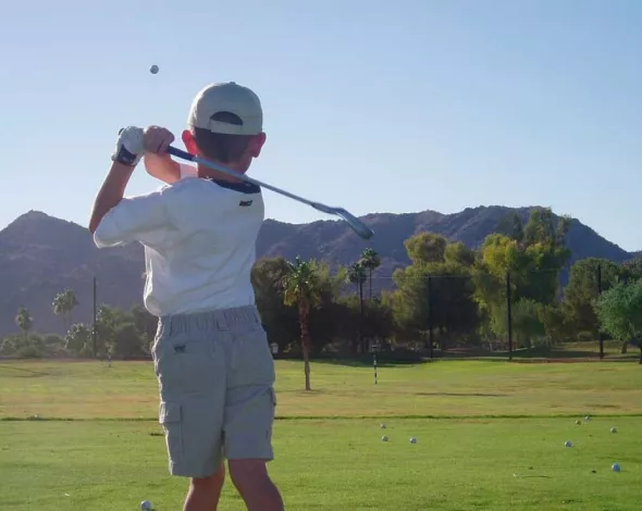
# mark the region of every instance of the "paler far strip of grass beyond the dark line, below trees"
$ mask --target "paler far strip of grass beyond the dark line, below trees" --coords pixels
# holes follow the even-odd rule
[[[510,364],[440,361],[380,367],[312,363],[303,392],[299,362],[277,363],[280,416],[470,416],[642,413],[634,363]],[[152,419],[158,384],[148,362],[0,364],[0,419]]]

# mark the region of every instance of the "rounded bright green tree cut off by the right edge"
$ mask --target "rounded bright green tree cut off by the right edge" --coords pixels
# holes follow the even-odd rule
[[[602,294],[596,310],[602,327],[624,342],[622,352],[627,344],[638,346],[642,364],[642,279],[615,284]]]

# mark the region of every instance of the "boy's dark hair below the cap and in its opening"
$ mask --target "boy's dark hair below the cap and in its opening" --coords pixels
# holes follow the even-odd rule
[[[232,112],[217,112],[212,121],[243,126],[242,119]],[[254,135],[230,135],[190,126],[192,135],[203,157],[221,163],[233,163],[243,157]]]

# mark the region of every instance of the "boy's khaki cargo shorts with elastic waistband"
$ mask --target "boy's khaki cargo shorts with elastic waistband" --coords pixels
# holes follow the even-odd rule
[[[161,317],[151,351],[171,474],[273,459],[274,362],[256,307]]]

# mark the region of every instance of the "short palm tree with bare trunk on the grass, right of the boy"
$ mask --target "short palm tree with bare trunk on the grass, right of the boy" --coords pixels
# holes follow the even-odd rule
[[[316,261],[301,261],[297,257],[294,262],[287,262],[287,273],[283,278],[283,302],[296,306],[298,310],[306,390],[311,390],[310,310],[321,303],[321,281]]]

